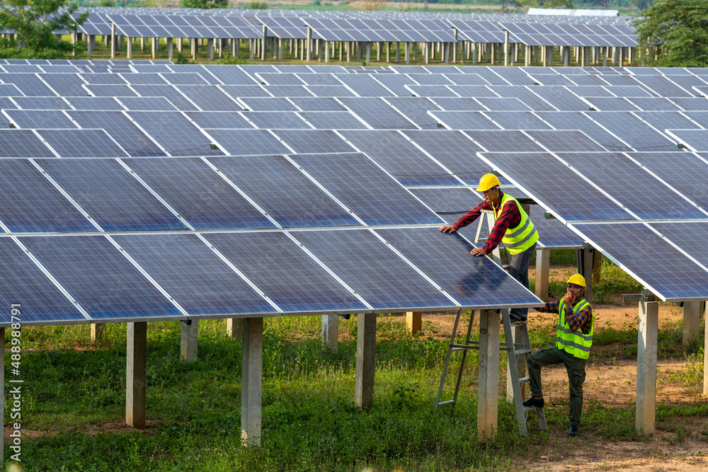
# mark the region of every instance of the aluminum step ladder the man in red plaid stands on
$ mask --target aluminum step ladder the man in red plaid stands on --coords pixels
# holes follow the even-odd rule
[[[494,215],[491,211],[484,210],[486,213],[489,228],[494,224]],[[477,227],[476,241],[484,241],[484,239],[479,238],[482,229],[483,218],[479,219],[479,226]],[[493,251],[493,258],[496,263],[501,265],[501,251],[496,248]],[[457,328],[459,328],[459,318],[462,314],[462,310],[457,312],[457,317],[455,318],[455,325],[452,327],[452,337],[450,338],[450,346],[447,348],[447,355],[445,356],[445,365],[442,367],[442,378],[440,379],[440,388],[438,388],[438,396],[435,398],[435,410],[442,405],[451,405],[452,408],[455,407],[457,403],[457,397],[459,396],[459,386],[462,383],[462,373],[464,372],[464,363],[467,360],[467,351],[474,349],[479,350],[479,341],[471,340],[472,336],[472,324],[474,323],[474,311],[470,313],[469,324],[467,326],[467,336],[464,340],[464,344],[457,344]],[[534,410],[539,422],[539,428],[545,430],[546,425],[546,415],[543,408],[535,407],[525,407],[523,405],[523,386],[527,384],[530,379],[525,376],[526,372],[526,356],[531,353],[531,341],[529,339],[529,333],[526,323],[523,324],[511,324],[509,318],[509,310],[501,310],[501,320],[504,326],[504,339],[505,343],[500,343],[499,349],[507,352],[507,395],[513,396],[513,401],[516,410],[516,419],[518,421],[519,434],[526,436],[526,417],[527,414]],[[445,377],[447,376],[447,369],[450,367],[450,357],[452,357],[452,352],[462,351],[462,360],[459,365],[459,372],[457,372],[457,382],[455,383],[455,393],[452,400],[440,401],[442,397],[442,388],[445,386]],[[510,388],[509,388],[510,387]]]

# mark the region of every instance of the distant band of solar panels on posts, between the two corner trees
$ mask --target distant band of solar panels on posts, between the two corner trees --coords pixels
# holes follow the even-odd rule
[[[87,35],[117,33],[130,38],[262,38],[268,36],[365,42],[510,42],[530,46],[634,47],[626,18],[394,11],[231,10],[189,8],[87,9],[79,29]]]

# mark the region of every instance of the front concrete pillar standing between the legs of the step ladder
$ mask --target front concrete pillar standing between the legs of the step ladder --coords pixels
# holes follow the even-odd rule
[[[499,314],[479,311],[479,393],[477,439],[493,436],[498,425],[499,398]]]

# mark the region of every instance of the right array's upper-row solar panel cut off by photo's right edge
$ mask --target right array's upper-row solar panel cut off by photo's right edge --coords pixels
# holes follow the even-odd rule
[[[649,171],[658,175],[661,180],[671,185],[705,210],[708,210],[708,163],[690,152],[682,153],[629,153],[632,159],[641,163]],[[677,169],[690,169],[678,172]]]

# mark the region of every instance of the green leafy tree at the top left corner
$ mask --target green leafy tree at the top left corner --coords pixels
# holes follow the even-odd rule
[[[89,18],[76,15],[77,6],[59,12],[67,0],[0,0],[0,30],[14,31],[0,39],[0,57],[61,59],[76,44],[57,39],[55,31],[72,31]]]

